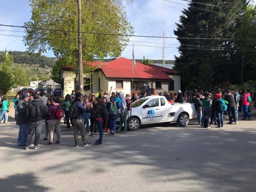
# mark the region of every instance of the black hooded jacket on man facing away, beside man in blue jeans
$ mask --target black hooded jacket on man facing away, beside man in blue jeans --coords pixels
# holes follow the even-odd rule
[[[46,113],[46,107],[40,100],[34,99],[28,103],[26,115],[29,122],[42,121]]]

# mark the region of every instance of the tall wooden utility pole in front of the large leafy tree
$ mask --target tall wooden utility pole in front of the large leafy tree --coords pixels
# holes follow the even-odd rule
[[[77,4],[78,4],[78,71],[79,71],[78,90],[83,94],[84,78],[83,78],[83,63],[82,63],[81,0],[77,0]]]

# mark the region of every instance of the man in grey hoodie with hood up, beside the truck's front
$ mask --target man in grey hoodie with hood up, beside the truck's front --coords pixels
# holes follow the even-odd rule
[[[125,133],[127,129],[128,110],[126,107],[126,99],[123,92],[119,92],[119,98],[121,99],[121,106],[120,106],[121,118],[120,118],[119,128],[116,130],[116,133]],[[121,131],[123,124],[124,124],[124,130]]]

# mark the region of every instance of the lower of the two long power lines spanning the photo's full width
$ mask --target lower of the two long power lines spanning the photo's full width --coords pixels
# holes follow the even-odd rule
[[[0,34],[3,35],[3,34]],[[17,36],[17,35],[11,35],[15,37],[25,37],[25,36]],[[41,37],[31,37],[35,39],[46,39],[46,40],[58,40],[58,41],[73,41],[73,42],[78,42],[77,40],[66,40],[66,39],[48,39],[48,38],[41,38]],[[83,43],[96,43],[96,44],[108,44],[108,45],[125,45],[125,46],[132,46],[129,44],[121,44],[121,43],[105,43],[105,42],[90,42],[90,41],[83,41]],[[9,46],[9,45],[8,45]],[[136,45],[140,47],[158,47],[162,48],[160,46],[151,46],[151,45]],[[256,51],[256,50],[243,50],[243,49],[225,49],[225,48],[220,48],[220,49],[206,49],[206,48],[185,48],[185,47],[166,47],[166,48],[175,48],[175,49],[200,49],[200,50],[216,50],[216,51]]]

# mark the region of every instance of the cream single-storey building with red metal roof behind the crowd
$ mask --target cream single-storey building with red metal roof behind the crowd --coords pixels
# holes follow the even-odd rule
[[[83,64],[85,61],[83,62]],[[93,74],[84,76],[88,85],[84,86],[84,94],[96,93],[99,89],[103,91],[122,91],[124,93],[144,90],[145,86],[153,85],[158,92],[177,92],[181,85],[181,74],[178,71],[160,67],[157,65],[145,65],[136,62],[133,68],[132,85],[132,60],[119,57],[111,62],[90,62],[91,66],[97,66]],[[64,66],[60,69],[62,76],[62,97],[71,94],[75,88],[74,67]],[[89,84],[90,83],[90,84]],[[132,91],[132,88],[134,91]]]

